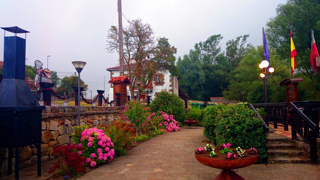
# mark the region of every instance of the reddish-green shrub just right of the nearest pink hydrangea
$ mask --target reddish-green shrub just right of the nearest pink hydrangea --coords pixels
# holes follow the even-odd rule
[[[115,154],[121,156],[132,148],[136,131],[129,123],[112,121],[111,125],[106,127],[105,134],[111,138]]]

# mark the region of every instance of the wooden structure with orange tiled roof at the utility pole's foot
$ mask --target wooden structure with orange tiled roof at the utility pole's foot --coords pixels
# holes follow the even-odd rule
[[[118,76],[110,79],[113,83],[113,99],[116,106],[124,106],[127,102],[127,85],[131,84],[127,76]]]

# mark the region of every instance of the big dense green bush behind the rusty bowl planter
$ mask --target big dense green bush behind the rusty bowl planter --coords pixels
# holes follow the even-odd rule
[[[232,147],[259,151],[259,161],[267,156],[263,124],[256,113],[245,104],[216,105],[205,109],[204,136],[215,144],[231,143]]]

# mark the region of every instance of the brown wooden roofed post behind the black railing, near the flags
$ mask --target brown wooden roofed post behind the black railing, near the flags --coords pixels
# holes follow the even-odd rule
[[[298,83],[303,82],[302,78],[284,79],[280,82],[280,86],[285,86],[287,97],[287,108],[290,110],[290,102],[297,102],[298,100]]]

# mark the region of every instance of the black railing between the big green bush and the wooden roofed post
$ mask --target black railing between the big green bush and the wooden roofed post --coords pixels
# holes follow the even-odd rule
[[[267,126],[272,124],[274,128],[278,126],[284,127],[285,131],[289,131],[287,104],[283,103],[264,103],[252,104],[254,108],[264,108],[267,116],[265,122]]]

